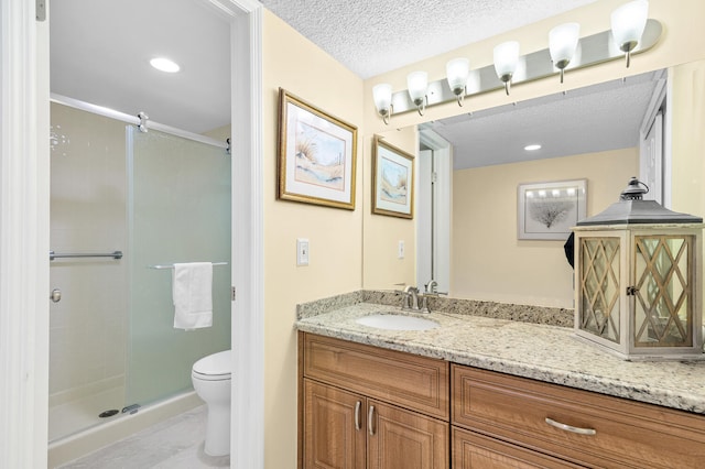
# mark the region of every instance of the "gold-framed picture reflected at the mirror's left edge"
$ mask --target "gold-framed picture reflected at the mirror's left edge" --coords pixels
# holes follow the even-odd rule
[[[414,157],[375,137],[372,214],[413,219]]]

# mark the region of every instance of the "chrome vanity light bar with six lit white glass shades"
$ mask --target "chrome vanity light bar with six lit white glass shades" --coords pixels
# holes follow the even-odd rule
[[[562,24],[549,33],[549,47],[541,51],[519,56],[519,43],[511,41],[495,47],[492,64],[477,69],[469,69],[469,65],[466,65],[467,59],[456,58],[446,64],[445,77],[432,83],[429,83],[425,72],[414,72],[408,76],[408,89],[392,92],[390,85],[375,87],[375,107],[382,121],[389,124],[392,113],[416,110],[423,116],[426,107],[451,101],[463,106],[466,96],[489,92],[501,87],[509,96],[512,84],[550,77],[555,75],[556,69],[563,83],[568,66],[571,69],[585,68],[621,58],[623,53],[627,54],[629,66],[630,55],[653,47],[663,32],[661,23],[647,19],[647,14],[648,1],[636,0],[615,10],[612,30],[579,37],[577,23]],[[629,24],[623,21],[625,18],[640,19],[638,29],[631,28],[634,30],[632,33],[622,32],[623,24]]]

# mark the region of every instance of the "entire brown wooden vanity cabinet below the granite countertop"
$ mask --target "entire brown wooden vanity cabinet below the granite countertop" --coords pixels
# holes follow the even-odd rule
[[[705,467],[705,415],[313,334],[299,347],[300,468]]]

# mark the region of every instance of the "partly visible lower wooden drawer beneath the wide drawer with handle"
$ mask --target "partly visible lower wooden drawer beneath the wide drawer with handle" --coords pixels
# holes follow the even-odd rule
[[[453,427],[454,469],[564,469],[581,468],[521,446]]]

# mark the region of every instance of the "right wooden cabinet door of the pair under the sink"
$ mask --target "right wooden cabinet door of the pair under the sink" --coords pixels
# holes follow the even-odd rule
[[[449,467],[449,425],[425,415],[368,400],[369,469]]]

